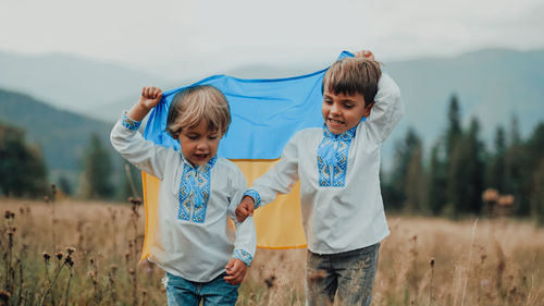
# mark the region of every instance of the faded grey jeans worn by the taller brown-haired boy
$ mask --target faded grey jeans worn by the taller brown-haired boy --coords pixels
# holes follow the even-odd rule
[[[349,252],[319,255],[308,252],[306,303],[310,306],[370,305],[380,244]]]

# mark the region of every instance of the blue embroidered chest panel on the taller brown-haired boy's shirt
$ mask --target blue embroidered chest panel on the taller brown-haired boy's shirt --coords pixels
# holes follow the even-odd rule
[[[346,184],[347,157],[357,125],[335,135],[323,126],[323,140],[318,146],[319,185],[343,187]]]

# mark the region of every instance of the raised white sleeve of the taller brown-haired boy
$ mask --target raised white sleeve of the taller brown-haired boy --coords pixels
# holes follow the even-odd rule
[[[366,121],[370,136],[383,143],[404,114],[400,89],[391,76],[382,74],[374,106]]]

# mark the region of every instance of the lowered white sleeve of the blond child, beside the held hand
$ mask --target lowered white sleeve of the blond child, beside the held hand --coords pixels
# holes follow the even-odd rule
[[[231,203],[228,205],[228,217],[234,221],[236,227],[233,258],[240,259],[246,264],[246,266],[249,267],[254,260],[257,247],[257,233],[255,230],[254,218],[248,217],[244,222],[239,223],[236,219],[236,215],[234,213],[242,199],[242,194],[247,187],[246,178],[238,168],[236,168],[236,171],[237,173],[234,175],[232,182],[232,194],[234,196],[231,198]]]

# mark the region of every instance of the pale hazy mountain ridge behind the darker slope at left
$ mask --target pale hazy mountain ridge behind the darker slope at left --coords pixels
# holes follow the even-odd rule
[[[148,84],[165,86],[166,82],[122,64],[71,54],[24,56],[0,51],[0,88],[25,93],[84,114]]]

